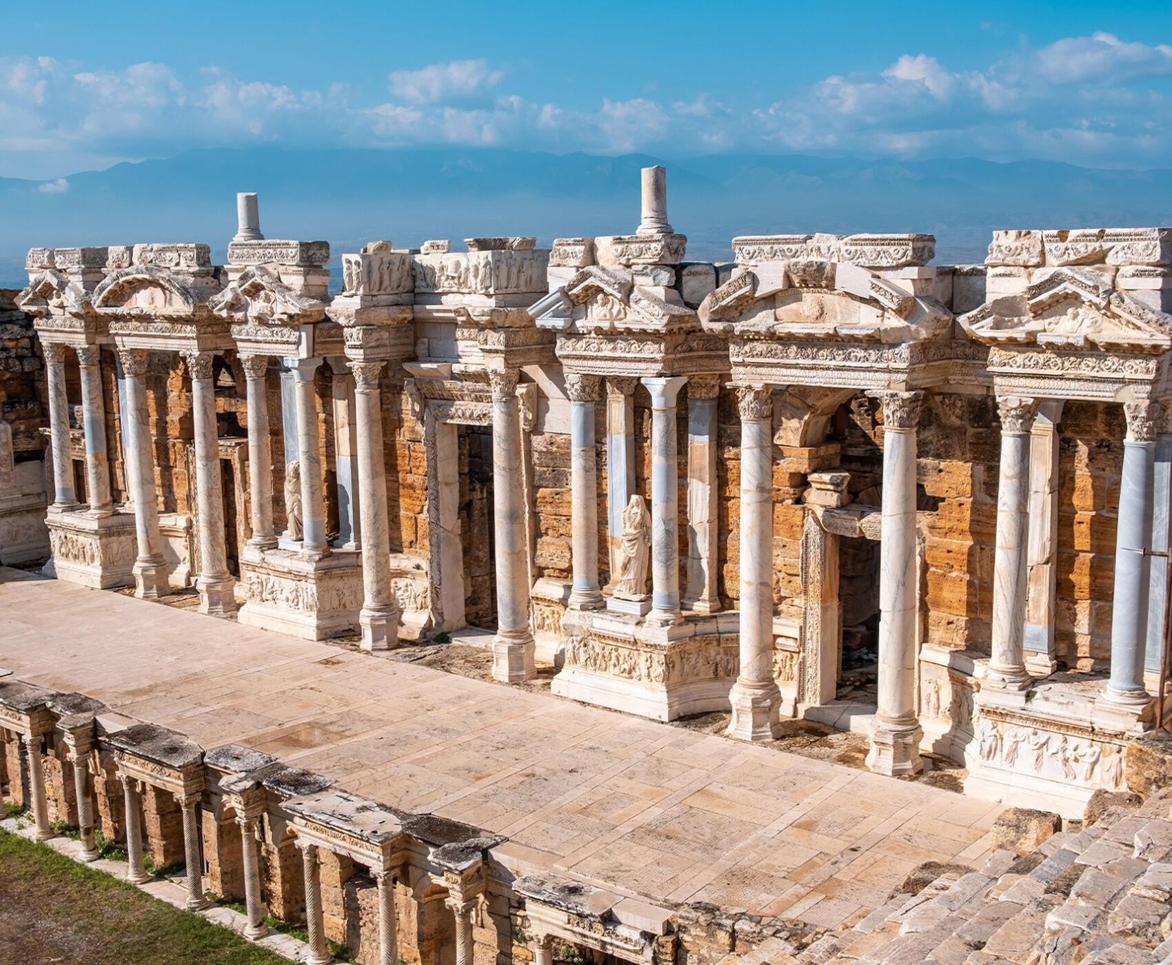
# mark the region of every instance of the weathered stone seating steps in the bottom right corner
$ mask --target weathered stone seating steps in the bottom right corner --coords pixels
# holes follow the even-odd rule
[[[1109,808],[1024,856],[996,851],[900,894],[802,951],[778,940],[742,965],[1172,965],[1172,789]]]

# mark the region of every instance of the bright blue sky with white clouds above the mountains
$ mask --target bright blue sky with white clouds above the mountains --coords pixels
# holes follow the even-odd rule
[[[189,148],[1172,166],[1172,4],[6,5],[0,176]]]

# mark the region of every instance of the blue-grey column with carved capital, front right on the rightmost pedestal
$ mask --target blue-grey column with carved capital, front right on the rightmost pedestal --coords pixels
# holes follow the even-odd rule
[[[1144,651],[1147,645],[1147,597],[1151,557],[1156,430],[1159,405],[1124,403],[1127,438],[1123,444],[1119,480],[1119,519],[1115,545],[1115,595],[1111,608],[1111,679],[1103,700],[1142,709],[1151,699],[1144,686]]]

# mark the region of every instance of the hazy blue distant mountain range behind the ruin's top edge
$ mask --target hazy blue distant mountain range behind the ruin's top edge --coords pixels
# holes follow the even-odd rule
[[[928,232],[936,261],[984,258],[996,227],[1172,224],[1172,170],[1125,171],[975,158],[860,160],[799,155],[600,157],[495,149],[196,150],[60,182],[0,178],[0,287],[26,282],[33,246],[206,241],[222,260],[236,192],[260,194],[270,238],[618,234],[639,223],[639,169],[668,169],[668,212],[697,260],[736,234]]]

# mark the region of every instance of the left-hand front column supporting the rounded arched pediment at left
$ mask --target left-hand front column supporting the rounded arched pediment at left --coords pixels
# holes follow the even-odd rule
[[[158,494],[155,484],[155,452],[146,405],[146,361],[143,349],[120,349],[125,377],[127,408],[122,434],[127,439],[127,484],[135,507],[135,596],[158,600],[168,590],[163,539],[158,532]]]

